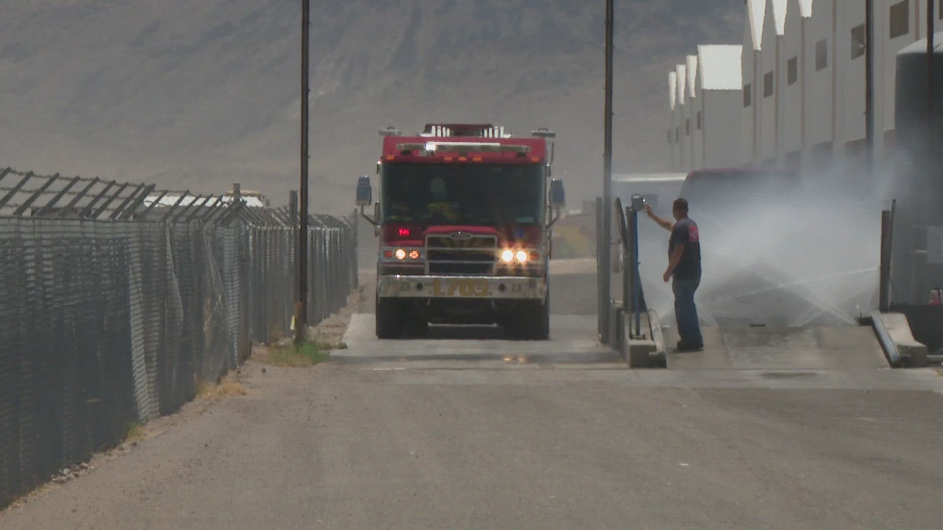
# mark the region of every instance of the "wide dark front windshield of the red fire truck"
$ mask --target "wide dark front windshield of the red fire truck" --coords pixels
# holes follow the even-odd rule
[[[389,163],[381,182],[387,223],[543,223],[538,165]]]

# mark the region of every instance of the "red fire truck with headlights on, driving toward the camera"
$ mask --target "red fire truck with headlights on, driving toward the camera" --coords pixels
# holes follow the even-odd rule
[[[509,338],[550,336],[551,228],[564,205],[551,179],[555,135],[491,124],[380,131],[380,200],[370,177],[356,204],[379,236],[376,336],[421,337],[429,324],[498,324]]]

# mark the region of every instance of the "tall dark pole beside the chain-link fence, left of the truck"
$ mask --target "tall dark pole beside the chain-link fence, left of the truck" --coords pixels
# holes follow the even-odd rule
[[[311,2],[301,3],[301,183],[298,215],[298,301],[295,306],[295,344],[306,340],[307,331],[307,98],[308,98],[308,31],[311,23]]]

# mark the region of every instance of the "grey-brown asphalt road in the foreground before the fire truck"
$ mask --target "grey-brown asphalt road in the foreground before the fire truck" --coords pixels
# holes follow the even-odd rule
[[[594,307],[576,294],[588,281],[555,277],[572,294],[554,307]],[[933,371],[636,372],[515,362],[532,345],[500,340],[510,361],[407,358],[437,344],[455,340],[373,363],[252,361],[247,395],[0,528],[943,527]]]

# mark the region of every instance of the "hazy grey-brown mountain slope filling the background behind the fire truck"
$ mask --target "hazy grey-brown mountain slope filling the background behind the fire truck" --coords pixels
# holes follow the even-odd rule
[[[297,0],[6,0],[0,164],[198,191],[296,185]],[[346,205],[376,130],[488,121],[558,132],[571,197],[597,193],[604,2],[314,0],[312,207]],[[616,167],[664,164],[665,80],[738,41],[732,0],[620,2]]]

